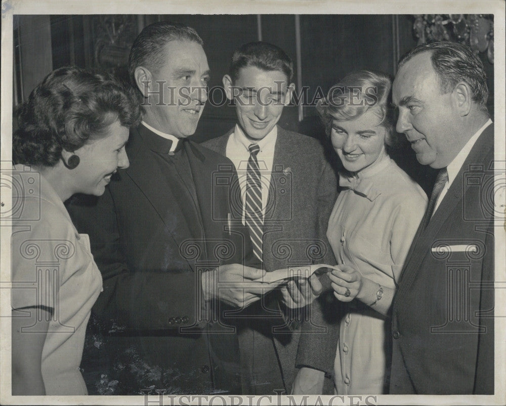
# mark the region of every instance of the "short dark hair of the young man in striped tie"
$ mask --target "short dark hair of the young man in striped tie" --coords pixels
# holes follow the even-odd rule
[[[262,70],[280,70],[289,83],[293,76],[293,62],[279,47],[263,41],[242,45],[234,51],[229,73],[232,82],[239,77],[239,70],[246,66],[255,66]]]

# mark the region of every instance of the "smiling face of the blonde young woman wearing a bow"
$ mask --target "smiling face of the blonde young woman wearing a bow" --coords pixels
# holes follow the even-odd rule
[[[360,172],[386,153],[387,130],[379,121],[373,110],[352,120],[332,119],[332,146],[347,171]]]

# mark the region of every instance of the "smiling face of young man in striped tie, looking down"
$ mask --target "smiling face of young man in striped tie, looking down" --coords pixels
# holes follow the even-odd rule
[[[241,68],[233,84],[225,75],[223,85],[227,98],[235,100],[239,127],[252,141],[260,141],[274,128],[290,101],[293,87],[288,86],[283,71],[256,66]]]

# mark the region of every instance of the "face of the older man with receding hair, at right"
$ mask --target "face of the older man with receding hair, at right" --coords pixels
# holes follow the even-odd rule
[[[460,151],[453,92],[441,94],[431,53],[415,55],[399,68],[392,100],[399,108],[397,132],[404,133],[422,165],[443,168]]]

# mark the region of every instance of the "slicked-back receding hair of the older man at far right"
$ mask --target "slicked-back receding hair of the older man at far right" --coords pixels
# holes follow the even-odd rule
[[[459,82],[466,82],[473,92],[473,101],[488,113],[487,75],[483,62],[470,47],[451,41],[421,44],[401,57],[399,68],[422,52],[431,53],[431,63],[438,75],[441,94],[451,92]]]

